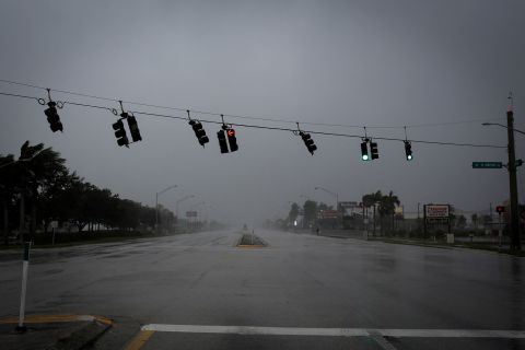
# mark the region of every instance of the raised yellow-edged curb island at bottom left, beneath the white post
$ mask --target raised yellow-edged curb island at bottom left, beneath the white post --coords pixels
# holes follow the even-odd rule
[[[16,332],[18,317],[0,318],[0,345],[4,350],[83,349],[113,325],[102,316],[32,315],[25,318],[25,332]]]

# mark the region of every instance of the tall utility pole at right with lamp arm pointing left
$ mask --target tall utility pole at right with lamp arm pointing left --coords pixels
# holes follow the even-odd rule
[[[497,124],[497,122],[483,122],[483,126],[495,125],[506,129],[508,140],[509,140],[509,163],[506,164],[506,170],[509,171],[509,189],[511,194],[511,249],[521,250],[522,244],[520,242],[520,218],[517,212],[517,179],[516,179],[516,150],[514,145],[514,131],[525,133],[521,130],[514,129],[514,113],[512,108],[512,95],[509,96],[511,100],[511,106],[506,112],[506,126]]]

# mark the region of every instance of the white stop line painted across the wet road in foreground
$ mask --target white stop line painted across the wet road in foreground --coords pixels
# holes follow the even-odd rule
[[[383,337],[396,338],[509,338],[525,339],[525,330],[503,329],[371,329],[371,328],[295,328],[244,327],[199,325],[144,325],[142,330],[174,332],[207,332],[261,336],[317,336],[317,337]]]

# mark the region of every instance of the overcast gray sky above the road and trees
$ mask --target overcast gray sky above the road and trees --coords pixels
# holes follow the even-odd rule
[[[372,137],[506,144],[514,92],[516,128],[525,129],[525,2],[455,1],[1,1],[0,79],[58,90],[232,115],[368,126]],[[45,96],[0,83],[2,92]],[[56,100],[110,102],[54,93]],[[0,96],[0,153],[25,140],[59,151],[86,180],[153,205],[194,194],[212,218],[254,222],[284,217],[301,195],[334,203],[316,186],[359,201],[381,189],[417,203],[483,210],[509,197],[504,170],[472,170],[472,161],[505,161],[506,151],[380,141],[380,160],[362,162],[360,140],[313,136],[311,156],[285,131],[237,127],[240,150],[220,154],[218,125],[205,124],[202,149],[185,121],[137,115],[143,141],[116,145],[110,113],[60,110],[65,132],[49,130],[36,102]],[[126,105],[132,110],[185,116]],[[215,118],[199,116],[196,118]],[[290,127],[257,120],[226,119]],[[401,128],[372,128],[397,126]],[[362,129],[304,125],[361,135]],[[523,136],[516,135],[524,158]],[[520,168],[523,202],[524,170]]]

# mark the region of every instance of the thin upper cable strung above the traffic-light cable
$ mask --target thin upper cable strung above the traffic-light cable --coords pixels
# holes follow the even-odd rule
[[[33,88],[33,89],[40,89],[40,90],[47,90],[48,89],[48,88],[38,86],[38,85],[35,85],[35,84],[22,83],[22,82],[12,81],[12,80],[5,80],[5,79],[0,79],[0,82],[8,83],[8,84],[13,84],[13,85]],[[50,89],[50,90],[54,91],[54,92],[74,95],[74,96],[89,97],[89,98],[95,98],[95,100],[101,100],[101,101],[119,102],[119,100],[115,100],[115,98],[91,95],[91,94],[74,92],[74,91],[70,91],[70,90],[55,90],[55,89]],[[155,104],[127,101],[127,100],[122,100],[122,103],[137,105],[137,106],[143,106],[143,107],[168,109],[168,110],[178,110],[178,112],[189,110],[191,113],[199,114],[199,115],[210,115],[210,116],[221,116],[221,115],[223,115],[223,116],[229,117],[229,118],[238,118],[238,119],[247,119],[247,120],[260,120],[260,121],[271,121],[271,122],[292,124],[292,125],[295,125],[298,122],[298,120],[283,119],[283,118],[278,118],[278,117],[260,117],[260,116],[246,116],[246,115],[234,115],[234,114],[220,114],[220,113],[215,113],[215,112],[188,109],[188,108],[182,108],[182,107],[171,107],[171,106],[155,105]],[[404,126],[365,126],[365,125],[328,124],[328,122],[313,122],[313,121],[301,121],[301,124],[302,125],[310,125],[310,126],[338,127],[338,128],[342,127],[342,128],[358,128],[358,129],[362,129],[364,127],[366,127],[368,129],[402,129],[402,128],[424,128],[424,127],[440,127],[440,126],[462,125],[462,124],[472,124],[472,122],[486,122],[486,121],[495,121],[495,120],[503,120],[503,119],[504,118],[490,118],[490,119],[486,118],[486,119],[470,119],[470,120],[431,122],[431,124],[416,124],[416,125],[404,125]]]

